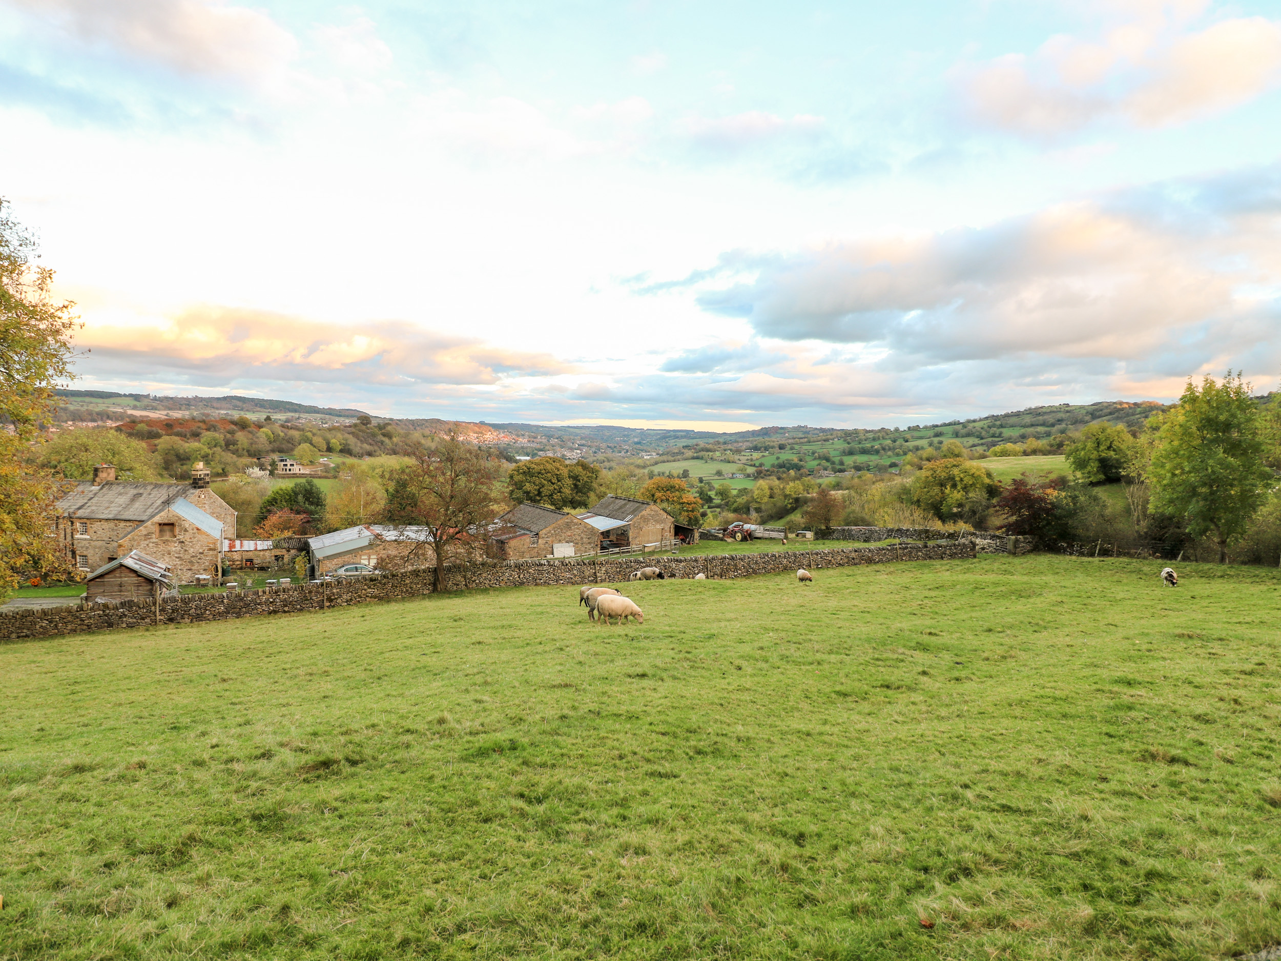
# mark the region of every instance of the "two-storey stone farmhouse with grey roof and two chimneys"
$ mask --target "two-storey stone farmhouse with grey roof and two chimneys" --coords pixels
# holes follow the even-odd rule
[[[99,464],[94,479],[58,501],[56,536],[72,566],[85,571],[142,551],[169,569],[175,583],[222,573],[223,532],[236,530],[236,511],[209,489],[209,470],[196,464],[191,484],[117,481]]]

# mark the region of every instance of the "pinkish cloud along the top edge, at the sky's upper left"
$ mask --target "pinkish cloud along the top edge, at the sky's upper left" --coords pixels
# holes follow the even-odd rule
[[[293,36],[260,10],[200,0],[6,0],[91,47],[182,73],[256,79],[296,54]]]

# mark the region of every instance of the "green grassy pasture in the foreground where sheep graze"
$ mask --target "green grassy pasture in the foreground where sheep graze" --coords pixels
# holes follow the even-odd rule
[[[0,647],[4,958],[1281,940],[1281,577],[1053,556]]]

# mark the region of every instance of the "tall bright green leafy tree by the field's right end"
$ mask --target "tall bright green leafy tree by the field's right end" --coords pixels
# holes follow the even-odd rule
[[[1199,390],[1189,381],[1179,404],[1153,422],[1150,507],[1184,518],[1193,537],[1208,536],[1222,564],[1276,483],[1250,384],[1231,372],[1222,383],[1205,377]]]

